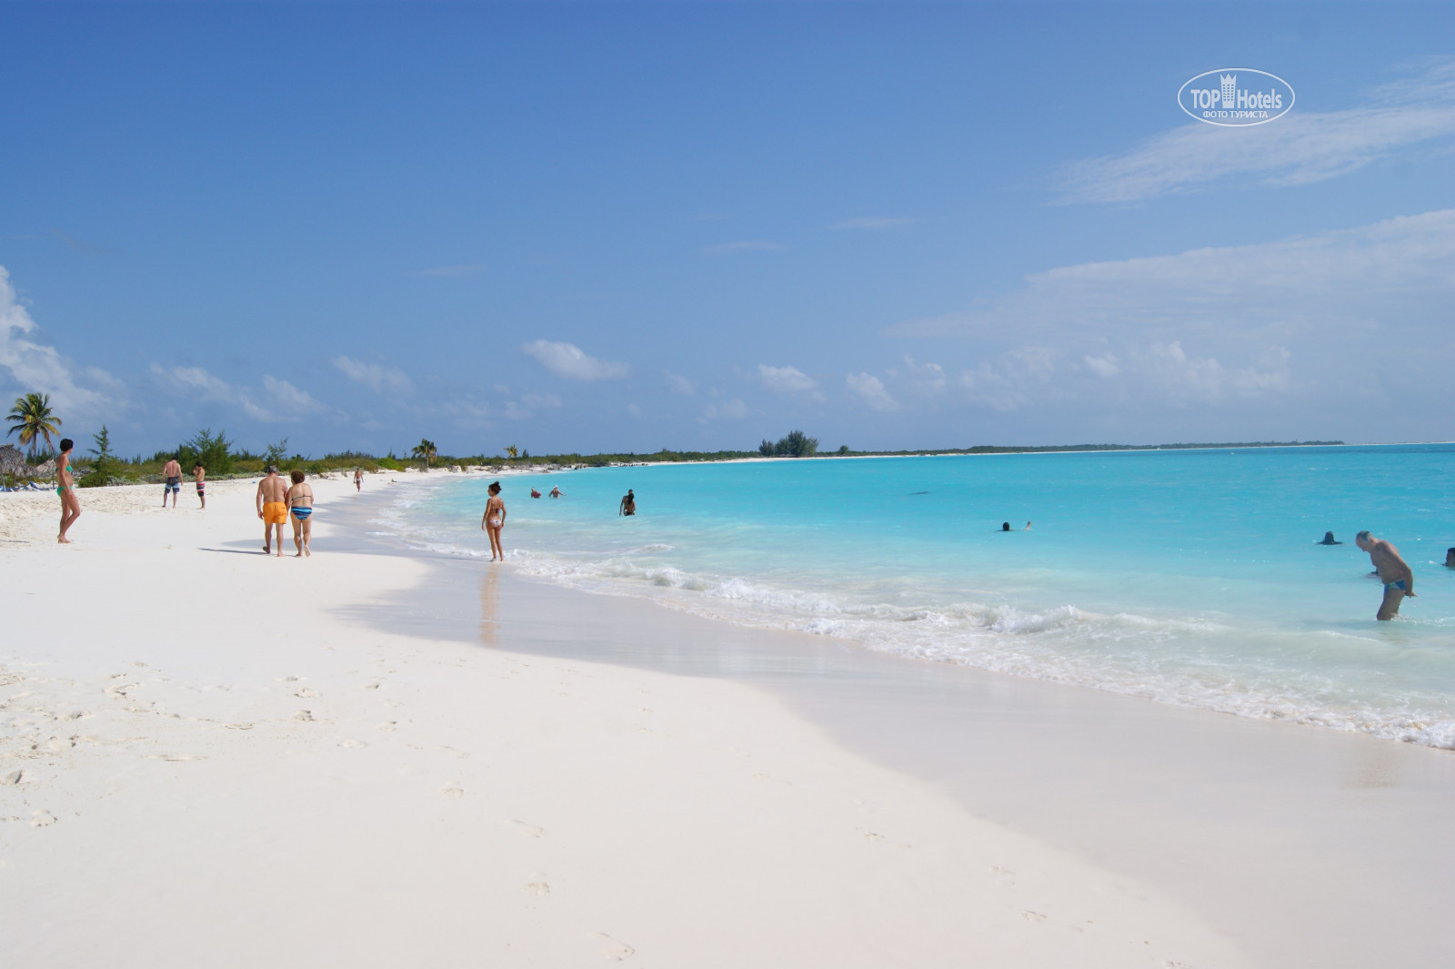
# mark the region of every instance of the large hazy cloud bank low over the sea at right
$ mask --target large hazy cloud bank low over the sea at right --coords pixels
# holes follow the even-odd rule
[[[1299,415],[1304,426],[1327,428],[1337,415],[1347,428],[1366,426],[1365,415],[1372,422],[1376,402],[1408,397],[1427,402],[1432,416],[1401,406],[1401,431],[1363,434],[1433,439],[1448,436],[1433,413],[1455,371],[1452,306],[1455,210],[1446,210],[1062,266],[889,333],[969,340],[979,359],[956,387],[997,410],[1100,407],[1122,415],[1107,426],[1126,426],[1155,422],[1158,407],[1206,404],[1285,428]]]

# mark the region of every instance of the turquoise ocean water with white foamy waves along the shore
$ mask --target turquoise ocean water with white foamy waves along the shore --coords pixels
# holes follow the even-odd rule
[[[406,480],[378,530],[489,557],[487,479]],[[502,479],[503,544],[730,623],[1455,748],[1452,482],[1455,445],[591,468]],[[1392,623],[1363,528],[1416,573]]]

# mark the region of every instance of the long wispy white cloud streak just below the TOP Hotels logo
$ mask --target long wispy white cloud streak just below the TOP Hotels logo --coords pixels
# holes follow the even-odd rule
[[[1120,156],[1084,159],[1059,173],[1065,202],[1135,202],[1193,192],[1232,178],[1307,185],[1362,169],[1420,143],[1455,135],[1455,60],[1385,84],[1347,111],[1292,112],[1263,125],[1199,121]]]

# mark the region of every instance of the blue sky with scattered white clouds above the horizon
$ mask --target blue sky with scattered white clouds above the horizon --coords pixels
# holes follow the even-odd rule
[[[1451,3],[0,3],[0,93],[83,447],[1455,438]]]

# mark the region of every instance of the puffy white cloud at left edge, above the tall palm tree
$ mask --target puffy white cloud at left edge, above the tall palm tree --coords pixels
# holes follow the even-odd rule
[[[29,339],[35,330],[35,320],[20,306],[10,274],[0,266],[0,367],[10,371],[16,388],[49,394],[51,407],[63,422],[115,416],[125,407],[124,387],[115,377],[96,367],[76,374],[54,346]]]

